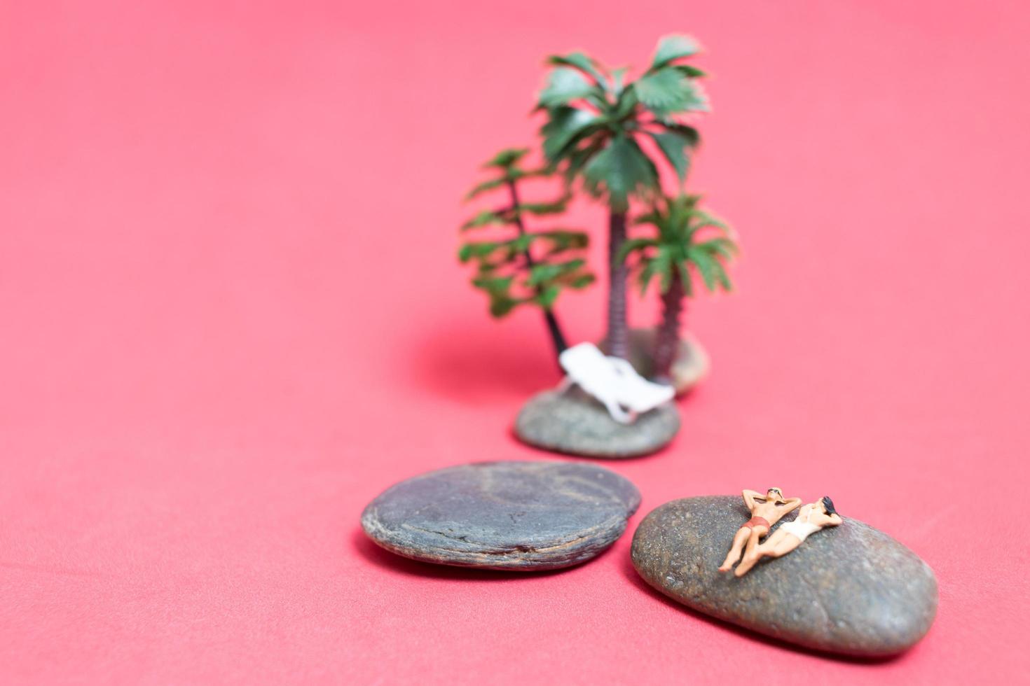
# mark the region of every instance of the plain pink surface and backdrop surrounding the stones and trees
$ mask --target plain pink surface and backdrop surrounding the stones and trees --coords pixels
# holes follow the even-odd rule
[[[0,6],[0,681],[1025,678],[1026,3],[144,4]],[[522,577],[359,531],[402,478],[546,457],[509,434],[557,381],[541,323],[485,317],[457,201],[531,140],[545,53],[640,65],[672,31],[709,48],[692,187],[745,256],[691,305],[714,373],[680,436],[611,464],[630,532],[829,493],[936,571],[895,660],[685,612],[628,535]],[[574,340],[602,295],[560,302]]]

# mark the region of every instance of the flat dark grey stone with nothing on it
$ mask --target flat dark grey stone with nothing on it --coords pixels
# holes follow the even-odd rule
[[[590,559],[640,506],[615,472],[565,462],[481,462],[415,476],[362,514],[373,541],[406,557],[501,570]]]

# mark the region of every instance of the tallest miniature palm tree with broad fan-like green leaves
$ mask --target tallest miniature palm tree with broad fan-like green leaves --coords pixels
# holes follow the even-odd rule
[[[628,348],[627,272],[618,255],[626,240],[629,198],[649,200],[660,191],[658,167],[640,141],[653,141],[682,184],[698,134],[677,117],[705,111],[708,102],[695,81],[705,73],[680,61],[698,50],[687,36],[666,36],[648,70],[631,82],[625,82],[624,69],[610,71],[582,52],[548,60],[554,69],[538,104],[547,116],[541,129],[544,154],[570,182],[580,181],[608,205],[606,341],[609,354],[618,357],[625,358]]]

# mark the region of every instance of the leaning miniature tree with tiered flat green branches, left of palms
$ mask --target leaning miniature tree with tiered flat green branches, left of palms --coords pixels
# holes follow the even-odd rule
[[[554,314],[554,301],[562,289],[580,289],[594,280],[585,265],[582,251],[588,238],[582,231],[562,228],[529,231],[525,215],[553,215],[564,212],[566,196],[551,203],[523,203],[518,184],[529,177],[552,175],[553,169],[525,170],[520,161],[528,150],[506,149],[499,152],[484,168],[495,172],[493,178],[476,185],[467,200],[504,188],[508,204],[483,210],[467,221],[461,230],[504,225],[513,227],[514,234],[495,240],[466,241],[458,251],[462,263],[476,264],[472,284],[483,290],[490,301],[490,314],[502,318],[522,304],[539,306],[544,313],[547,330],[555,354],[568,344]]]

